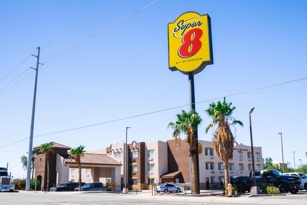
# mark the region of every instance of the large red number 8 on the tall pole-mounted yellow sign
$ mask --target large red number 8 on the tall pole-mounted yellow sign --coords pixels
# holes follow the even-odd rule
[[[178,49],[179,56],[183,58],[188,58],[195,55],[201,48],[201,41],[199,39],[202,37],[202,35],[203,31],[201,29],[189,30],[182,37],[183,44]]]

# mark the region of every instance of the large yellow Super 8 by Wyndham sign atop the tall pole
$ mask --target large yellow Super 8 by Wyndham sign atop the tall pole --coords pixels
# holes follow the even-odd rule
[[[188,75],[213,64],[211,20],[208,14],[181,14],[168,24],[169,69]]]

